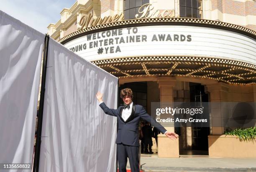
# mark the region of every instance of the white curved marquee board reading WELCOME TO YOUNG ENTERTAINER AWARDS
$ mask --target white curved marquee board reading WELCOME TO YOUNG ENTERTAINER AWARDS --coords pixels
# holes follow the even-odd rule
[[[256,63],[255,40],[210,27],[150,24],[115,27],[76,37],[64,46],[90,61],[120,57],[195,56]]]

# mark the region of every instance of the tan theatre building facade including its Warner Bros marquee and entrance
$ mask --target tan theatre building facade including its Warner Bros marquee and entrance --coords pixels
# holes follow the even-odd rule
[[[161,121],[179,139],[158,135],[159,157],[256,157],[255,142],[224,135],[237,102],[252,112],[236,117],[256,126],[256,2],[77,0],[60,14],[48,34],[118,77],[151,116],[154,102],[207,106],[207,126]]]

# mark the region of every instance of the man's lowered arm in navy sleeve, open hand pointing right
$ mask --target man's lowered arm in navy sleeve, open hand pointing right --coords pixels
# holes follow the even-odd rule
[[[146,120],[147,122],[151,123],[154,127],[156,127],[157,130],[159,130],[162,134],[165,134],[170,139],[174,140],[177,139],[179,135],[177,135],[175,132],[168,132],[159,122],[156,122],[148,113],[146,110],[142,107],[140,112],[141,118],[143,120]]]

